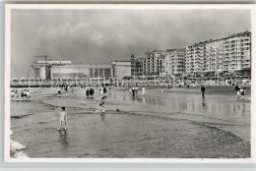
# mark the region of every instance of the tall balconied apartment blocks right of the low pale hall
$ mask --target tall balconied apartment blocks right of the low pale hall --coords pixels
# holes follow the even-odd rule
[[[132,76],[196,76],[251,72],[251,32],[234,33],[181,49],[153,50],[131,56]]]

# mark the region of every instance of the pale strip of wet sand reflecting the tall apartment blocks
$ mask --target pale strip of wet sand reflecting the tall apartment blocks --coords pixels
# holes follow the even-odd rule
[[[212,118],[228,119],[239,118],[250,115],[250,103],[243,101],[230,101],[211,98],[202,98],[200,95],[187,94],[162,94],[131,96],[129,93],[116,95],[118,92],[109,93],[109,98],[120,100],[126,103],[135,102],[151,106],[158,106],[162,112],[181,112],[189,114],[200,114]],[[121,94],[121,93],[120,93]],[[161,112],[158,111],[158,112]]]

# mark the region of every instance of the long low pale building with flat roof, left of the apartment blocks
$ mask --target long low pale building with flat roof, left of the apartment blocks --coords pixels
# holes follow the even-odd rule
[[[30,67],[31,79],[89,79],[123,78],[131,76],[131,61],[114,61],[110,64],[72,65],[71,61],[36,62]]]

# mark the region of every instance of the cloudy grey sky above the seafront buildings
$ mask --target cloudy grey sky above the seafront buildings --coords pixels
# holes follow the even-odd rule
[[[106,64],[251,30],[249,10],[18,10],[11,13],[11,77],[33,56]]]

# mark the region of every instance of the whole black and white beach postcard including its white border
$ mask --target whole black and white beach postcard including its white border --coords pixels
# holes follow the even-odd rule
[[[6,161],[255,162],[255,6],[5,14]]]

